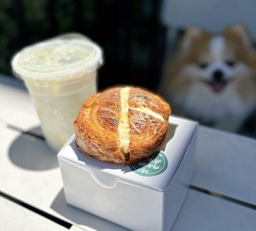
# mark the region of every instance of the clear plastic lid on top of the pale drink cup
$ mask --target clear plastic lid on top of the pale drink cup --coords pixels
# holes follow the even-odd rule
[[[91,73],[103,63],[98,44],[79,33],[68,33],[25,47],[12,59],[21,79],[64,80]]]

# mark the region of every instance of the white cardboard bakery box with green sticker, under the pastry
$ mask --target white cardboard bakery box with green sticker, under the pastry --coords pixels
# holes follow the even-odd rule
[[[131,230],[170,230],[194,172],[197,127],[170,116],[161,151],[132,166],[88,158],[72,136],[58,154],[66,202]]]

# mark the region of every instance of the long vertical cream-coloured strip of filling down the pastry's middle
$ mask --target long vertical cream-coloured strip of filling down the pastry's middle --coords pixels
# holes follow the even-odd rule
[[[120,90],[120,121],[118,124],[118,135],[120,148],[125,154],[129,153],[129,141],[130,141],[130,128],[128,120],[128,99],[129,99],[129,87],[122,88]]]

